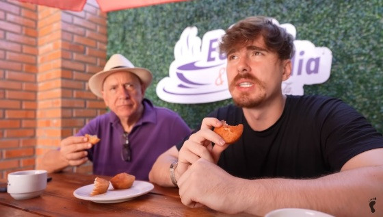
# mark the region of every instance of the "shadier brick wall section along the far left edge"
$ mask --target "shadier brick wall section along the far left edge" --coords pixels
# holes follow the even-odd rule
[[[35,166],[36,27],[36,5],[0,1],[0,179]]]

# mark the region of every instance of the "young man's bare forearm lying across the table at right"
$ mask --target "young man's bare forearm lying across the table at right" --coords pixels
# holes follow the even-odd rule
[[[371,200],[378,203],[383,199],[382,183],[383,166],[370,166],[318,179],[248,180],[245,184],[249,188],[241,193],[246,195],[243,203],[248,204],[246,212],[251,214],[298,207],[334,216],[377,216],[383,214],[383,202],[371,207]]]

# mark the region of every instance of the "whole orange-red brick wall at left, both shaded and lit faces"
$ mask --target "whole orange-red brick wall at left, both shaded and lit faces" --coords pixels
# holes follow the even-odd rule
[[[106,18],[95,0],[82,12],[0,0],[0,179],[105,112],[87,81],[105,65]]]

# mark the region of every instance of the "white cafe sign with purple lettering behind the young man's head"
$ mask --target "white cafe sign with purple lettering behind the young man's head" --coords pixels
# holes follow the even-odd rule
[[[274,23],[278,21],[274,20]],[[295,38],[295,27],[280,25]],[[218,44],[225,31],[215,29],[197,36],[197,27],[186,27],[174,47],[174,61],[169,77],[157,84],[157,95],[170,103],[211,103],[229,99],[226,56]],[[321,84],[330,77],[332,53],[326,47],[315,47],[307,40],[294,40],[295,55],[291,77],[282,83],[285,94],[304,94],[305,84]]]

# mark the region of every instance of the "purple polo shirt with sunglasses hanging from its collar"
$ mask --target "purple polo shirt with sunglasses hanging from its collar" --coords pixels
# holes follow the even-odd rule
[[[135,175],[136,179],[148,180],[149,171],[157,157],[191,133],[176,112],[155,107],[148,99],[144,99],[143,104],[144,113],[128,136],[131,162],[121,159],[124,130],[114,112],[97,116],[77,133],[77,136],[88,133],[101,139],[88,151],[94,175],[114,176],[125,172]]]

